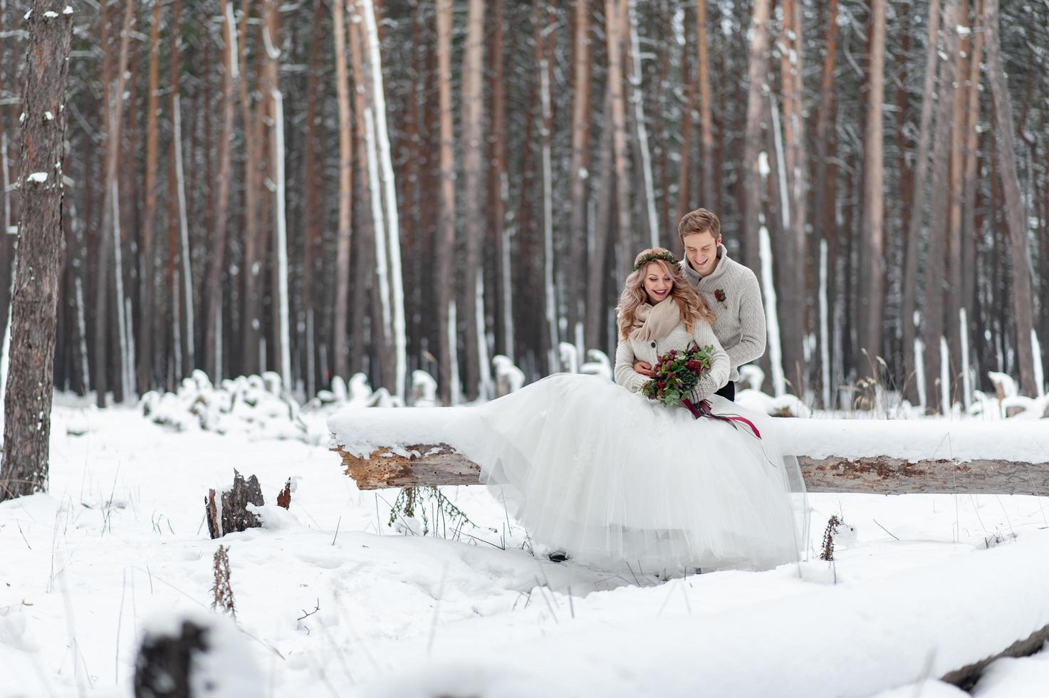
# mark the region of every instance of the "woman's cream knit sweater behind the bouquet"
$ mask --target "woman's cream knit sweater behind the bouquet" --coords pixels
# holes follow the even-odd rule
[[[661,339],[640,341],[627,338],[620,340],[616,346],[616,382],[630,393],[637,393],[648,381],[648,377],[634,371],[635,361],[647,361],[655,366],[659,358],[670,350],[679,352],[687,350],[693,341],[700,346],[710,344],[714,351],[710,360],[710,372],[701,378],[699,384],[692,389],[692,401],[699,402],[710,397],[728,382],[729,358],[718,341],[713,330],[704,320],[697,320],[692,324],[692,332],[685,329],[684,322],[679,322],[678,326]]]

